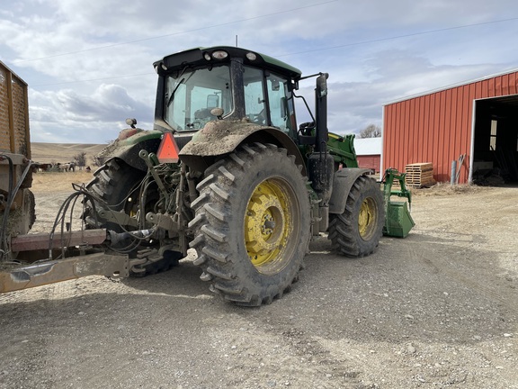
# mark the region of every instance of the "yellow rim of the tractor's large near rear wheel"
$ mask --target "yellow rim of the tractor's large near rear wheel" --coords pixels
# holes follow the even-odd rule
[[[246,206],[246,251],[260,273],[275,274],[285,265],[283,259],[293,230],[290,194],[286,182],[267,179],[255,186]]]

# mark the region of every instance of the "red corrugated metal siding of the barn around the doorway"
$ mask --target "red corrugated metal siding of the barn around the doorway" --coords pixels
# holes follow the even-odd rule
[[[468,182],[473,100],[515,94],[518,72],[387,104],[383,167],[404,171],[407,164],[432,162],[435,180],[450,181],[451,161],[466,154],[460,183]]]

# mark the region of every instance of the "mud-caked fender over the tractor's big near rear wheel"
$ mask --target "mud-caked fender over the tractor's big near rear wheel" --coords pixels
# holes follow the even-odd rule
[[[231,153],[243,143],[272,143],[287,149],[295,156],[295,163],[302,167],[302,174],[307,175],[304,159],[299,148],[290,136],[274,128],[244,121],[208,122],[202,130],[192,136],[192,140],[180,150],[180,159],[188,167],[204,171],[215,158]]]

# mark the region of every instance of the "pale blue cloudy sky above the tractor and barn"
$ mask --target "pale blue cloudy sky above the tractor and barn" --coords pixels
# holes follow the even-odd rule
[[[329,130],[357,133],[384,103],[518,68],[518,2],[0,0],[0,37],[30,86],[32,141],[104,143],[127,117],[151,129],[152,63],[236,40],[329,73]]]

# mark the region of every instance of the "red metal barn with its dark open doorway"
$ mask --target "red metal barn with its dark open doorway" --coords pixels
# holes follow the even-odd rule
[[[438,182],[490,174],[518,181],[518,70],[417,95],[383,107],[381,168],[432,162]],[[475,180],[477,182],[477,179]]]

